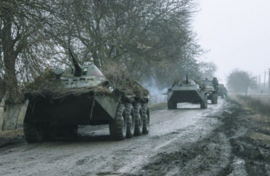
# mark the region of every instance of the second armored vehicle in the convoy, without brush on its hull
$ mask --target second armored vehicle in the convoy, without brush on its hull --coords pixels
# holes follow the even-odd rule
[[[168,89],[168,109],[177,109],[177,103],[200,103],[200,108],[207,108],[207,94],[194,81],[186,80],[175,83]]]

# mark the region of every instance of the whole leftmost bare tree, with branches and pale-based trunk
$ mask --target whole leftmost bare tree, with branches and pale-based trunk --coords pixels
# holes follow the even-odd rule
[[[0,1],[0,100],[5,97],[1,129],[16,127],[22,94],[17,72],[28,40],[38,32],[46,18],[47,2],[43,0],[1,0]]]

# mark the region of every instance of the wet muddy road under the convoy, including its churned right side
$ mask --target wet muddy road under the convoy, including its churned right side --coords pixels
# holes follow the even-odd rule
[[[208,102],[209,103],[209,102]],[[78,137],[0,148],[2,176],[264,176],[270,143],[251,134],[265,121],[232,101],[150,109],[150,132],[113,141],[107,125],[80,126]],[[250,118],[247,118],[250,116]],[[256,122],[256,123],[255,123]],[[251,125],[252,124],[252,125]],[[269,134],[268,134],[269,133]],[[269,141],[270,142],[270,141]]]

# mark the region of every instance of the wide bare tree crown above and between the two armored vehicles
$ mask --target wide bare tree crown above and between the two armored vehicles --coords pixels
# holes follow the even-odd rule
[[[101,70],[113,61],[137,79],[156,78],[162,75],[161,69],[167,70],[164,73],[172,68],[178,72],[188,61],[196,62],[194,57],[202,52],[190,29],[196,6],[192,0],[83,0],[81,3],[67,7],[71,13],[65,16],[70,18],[64,19],[63,24],[72,20],[76,29],[66,36],[72,37],[73,45],[80,46],[76,48],[77,51],[80,48],[78,55],[83,61],[91,60]],[[61,31],[70,28],[61,25],[58,30],[57,36],[61,36]],[[194,64],[186,66],[195,68]]]

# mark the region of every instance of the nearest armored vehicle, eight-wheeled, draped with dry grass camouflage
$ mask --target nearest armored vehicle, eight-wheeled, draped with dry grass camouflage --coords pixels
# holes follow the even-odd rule
[[[122,91],[93,65],[56,69],[55,79],[25,92],[23,131],[29,143],[76,135],[78,125],[109,125],[115,140],[147,134],[149,92],[134,81]],[[126,84],[128,86],[128,84]]]

